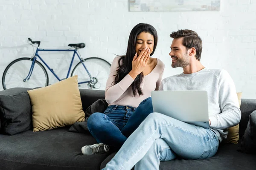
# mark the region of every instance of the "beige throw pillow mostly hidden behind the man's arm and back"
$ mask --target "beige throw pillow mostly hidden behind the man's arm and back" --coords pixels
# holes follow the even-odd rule
[[[241,92],[237,93],[239,108],[241,105],[241,96],[242,96]],[[239,124],[228,128],[228,134],[227,134],[227,139],[225,140],[225,143],[237,144],[238,141],[239,141]]]

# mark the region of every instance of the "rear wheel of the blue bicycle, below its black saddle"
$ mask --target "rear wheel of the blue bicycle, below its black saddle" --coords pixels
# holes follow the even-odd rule
[[[93,78],[93,82],[79,84],[79,88],[105,90],[111,64],[105,59],[97,57],[87,58],[82,62],[79,62],[75,66],[71,76],[78,75],[78,82],[90,81],[90,76],[87,74],[87,71],[84,68],[85,66]]]

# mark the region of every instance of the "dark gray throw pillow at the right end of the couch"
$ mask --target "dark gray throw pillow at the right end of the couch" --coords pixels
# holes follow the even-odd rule
[[[256,111],[253,111],[249,116],[249,122],[238,151],[256,153]]]

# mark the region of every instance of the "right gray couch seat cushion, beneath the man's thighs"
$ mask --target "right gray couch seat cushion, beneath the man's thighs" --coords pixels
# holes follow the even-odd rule
[[[240,153],[237,144],[223,144],[215,156],[209,159],[174,159],[161,161],[160,170],[253,170],[256,167],[256,155]],[[101,164],[101,169],[113,158],[111,153]]]

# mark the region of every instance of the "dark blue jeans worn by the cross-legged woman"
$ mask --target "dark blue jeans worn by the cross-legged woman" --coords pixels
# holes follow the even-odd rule
[[[104,113],[93,113],[88,118],[87,127],[97,142],[120,148],[152,112],[151,97],[143,100],[138,108],[111,105]]]

